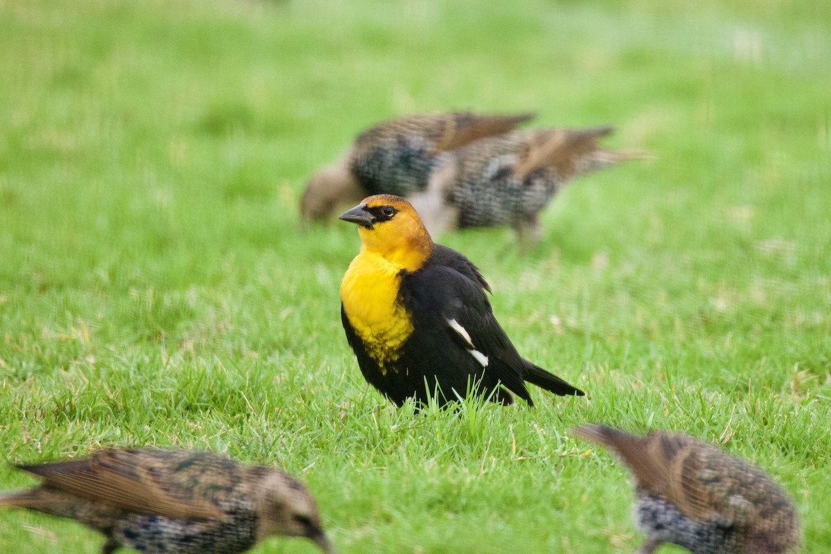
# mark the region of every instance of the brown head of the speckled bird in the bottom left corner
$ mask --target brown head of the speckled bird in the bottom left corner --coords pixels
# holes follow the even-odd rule
[[[272,535],[306,537],[323,552],[335,552],[323,532],[317,503],[297,480],[272,470],[257,484],[256,493],[260,517],[258,541]]]

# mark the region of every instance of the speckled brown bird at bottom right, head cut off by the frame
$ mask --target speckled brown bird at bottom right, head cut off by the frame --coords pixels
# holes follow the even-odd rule
[[[601,425],[573,434],[602,444],[635,481],[635,519],[647,535],[638,551],[665,542],[695,554],[785,554],[799,547],[794,505],[765,473],[686,435],[645,437]]]

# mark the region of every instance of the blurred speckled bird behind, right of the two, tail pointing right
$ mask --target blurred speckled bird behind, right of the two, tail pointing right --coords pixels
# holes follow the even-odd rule
[[[604,150],[596,129],[515,130],[440,156],[422,194],[409,198],[434,236],[455,228],[509,226],[521,244],[538,241],[539,213],[571,179],[639,151]]]

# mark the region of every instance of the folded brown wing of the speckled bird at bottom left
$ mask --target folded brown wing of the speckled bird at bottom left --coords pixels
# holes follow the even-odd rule
[[[112,449],[83,460],[18,467],[44,478],[44,486],[130,512],[176,519],[223,517],[213,503],[195,497],[192,489],[169,478],[177,463],[189,463],[188,456],[198,454],[186,450]],[[175,462],[172,467],[170,458]]]

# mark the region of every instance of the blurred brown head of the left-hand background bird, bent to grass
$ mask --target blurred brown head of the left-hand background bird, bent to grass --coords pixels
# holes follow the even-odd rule
[[[347,164],[327,165],[306,184],[300,199],[300,217],[304,221],[325,221],[337,213],[337,208],[357,202],[364,194]]]

